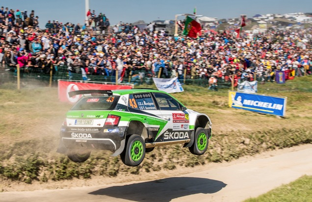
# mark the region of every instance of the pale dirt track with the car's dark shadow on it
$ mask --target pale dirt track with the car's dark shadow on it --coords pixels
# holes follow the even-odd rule
[[[71,189],[0,193],[2,202],[240,202],[312,175],[312,145],[206,165],[175,177]],[[194,170],[197,170],[194,168]]]

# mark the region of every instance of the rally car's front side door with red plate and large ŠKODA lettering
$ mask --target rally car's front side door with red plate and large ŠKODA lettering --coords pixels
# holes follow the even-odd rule
[[[168,123],[163,128],[164,141],[190,139],[189,117],[182,111],[181,104],[173,97],[164,93],[153,93],[160,113]]]

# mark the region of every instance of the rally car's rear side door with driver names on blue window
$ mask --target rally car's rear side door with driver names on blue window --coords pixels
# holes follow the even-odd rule
[[[163,141],[160,134],[162,134],[167,121],[163,120],[163,116],[150,93],[130,94],[128,109],[145,124],[148,136],[152,137],[151,142]]]

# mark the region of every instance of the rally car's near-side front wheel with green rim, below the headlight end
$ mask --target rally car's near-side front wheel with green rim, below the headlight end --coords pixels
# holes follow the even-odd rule
[[[194,155],[202,155],[208,148],[208,134],[202,127],[198,127],[195,131],[194,143],[189,147],[189,151]]]

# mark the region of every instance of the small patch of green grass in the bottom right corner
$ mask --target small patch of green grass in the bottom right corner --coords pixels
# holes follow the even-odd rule
[[[312,202],[312,176],[303,176],[244,202]]]

